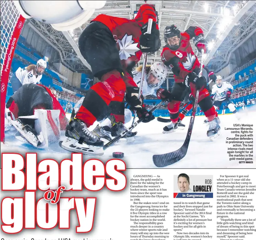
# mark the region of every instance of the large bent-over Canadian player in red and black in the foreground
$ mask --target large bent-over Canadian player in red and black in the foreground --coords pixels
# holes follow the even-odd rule
[[[153,19],[151,34],[146,33],[148,19]],[[73,152],[102,155],[103,142],[88,127],[111,113],[116,121],[112,126],[114,130],[118,133],[125,130],[125,92],[138,117],[144,117],[144,122],[153,119],[152,113],[138,99],[139,89],[131,71],[143,52],[155,52],[160,46],[153,5],[143,4],[133,20],[100,14],[91,21],[79,37],[79,49],[90,64],[93,76],[100,82],[86,94],[75,118],[67,126],[67,139],[60,143],[61,147]]]

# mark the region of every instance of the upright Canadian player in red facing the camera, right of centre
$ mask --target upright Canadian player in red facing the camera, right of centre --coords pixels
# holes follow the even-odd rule
[[[163,48],[161,58],[164,64],[171,68],[174,73],[175,83],[171,93],[167,90],[159,90],[157,96],[162,100],[169,99],[168,110],[172,123],[164,127],[164,131],[172,132],[178,127],[179,105],[183,100],[182,93],[188,87],[195,97],[197,90],[200,90],[198,104],[210,122],[207,136],[212,139],[219,135],[220,126],[209,91],[206,89],[207,71],[203,69],[202,77],[198,77],[200,63],[190,45],[190,39],[192,38],[194,38],[194,44],[198,51],[201,52],[201,49],[203,49],[206,52],[205,39],[201,28],[191,26],[182,33],[175,25],[165,28],[166,46]],[[209,78],[213,77],[213,74],[209,75]]]

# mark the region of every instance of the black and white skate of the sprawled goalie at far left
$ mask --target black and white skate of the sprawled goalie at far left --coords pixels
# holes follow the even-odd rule
[[[13,127],[15,127],[15,129],[21,134],[21,137],[23,138],[22,139],[17,137],[17,139],[23,142],[27,141],[27,143],[32,144],[34,147],[38,147],[41,145],[41,143],[44,140],[43,135],[38,135],[36,133],[35,129],[32,127],[32,124],[29,124],[29,121],[31,122],[31,120],[17,118],[15,119],[15,121],[10,119],[9,121],[12,123]]]

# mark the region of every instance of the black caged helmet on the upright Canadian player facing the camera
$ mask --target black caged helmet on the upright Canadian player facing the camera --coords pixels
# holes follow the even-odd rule
[[[177,50],[180,47],[180,30],[177,26],[167,26],[164,31],[165,44],[171,50]]]

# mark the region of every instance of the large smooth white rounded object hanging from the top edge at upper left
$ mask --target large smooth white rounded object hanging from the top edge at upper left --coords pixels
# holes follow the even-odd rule
[[[104,7],[106,3],[105,0],[13,0],[13,2],[25,19],[34,18],[49,23],[58,31],[71,31],[81,26],[92,16],[95,9]]]

